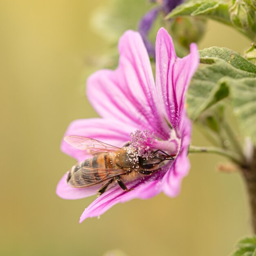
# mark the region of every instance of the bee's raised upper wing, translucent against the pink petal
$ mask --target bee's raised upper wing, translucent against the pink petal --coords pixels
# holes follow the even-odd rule
[[[88,137],[71,135],[66,136],[64,140],[75,148],[85,150],[85,153],[89,155],[93,155],[96,153],[108,153],[120,150],[120,148],[118,147]]]

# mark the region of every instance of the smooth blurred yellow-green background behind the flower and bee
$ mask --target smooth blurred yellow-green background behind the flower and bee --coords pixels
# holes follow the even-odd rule
[[[132,200],[82,224],[79,217],[95,197],[72,201],[55,194],[75,163],[59,149],[68,124],[97,116],[84,89],[95,62],[110,51],[92,26],[92,13],[104,13],[107,4],[0,2],[0,255],[101,256],[118,248],[128,256],[225,256],[250,232],[250,220],[243,181],[238,173],[216,171],[220,157],[192,155],[177,198]],[[134,17],[148,9],[133,8]],[[214,45],[243,53],[249,41],[209,22],[199,49]],[[193,144],[207,145],[196,128]]]

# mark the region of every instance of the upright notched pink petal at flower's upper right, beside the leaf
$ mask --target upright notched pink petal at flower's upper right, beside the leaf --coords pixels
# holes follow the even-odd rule
[[[159,29],[156,39],[156,87],[167,119],[176,130],[185,93],[198,64],[195,44],[191,44],[191,54],[177,58],[171,36],[164,28]]]

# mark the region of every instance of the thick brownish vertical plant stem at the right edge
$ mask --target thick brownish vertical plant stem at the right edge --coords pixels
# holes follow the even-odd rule
[[[251,208],[252,228],[256,234],[256,148],[254,148],[254,155],[252,161],[248,166],[242,168],[243,177],[249,195],[249,203]]]

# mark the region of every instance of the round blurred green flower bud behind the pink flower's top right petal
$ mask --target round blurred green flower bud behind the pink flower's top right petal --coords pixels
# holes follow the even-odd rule
[[[204,35],[206,21],[199,18],[179,17],[172,21],[171,31],[180,45],[189,49],[191,43],[197,43]]]

